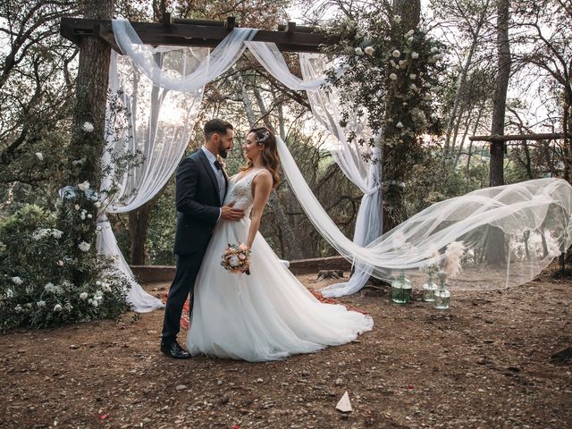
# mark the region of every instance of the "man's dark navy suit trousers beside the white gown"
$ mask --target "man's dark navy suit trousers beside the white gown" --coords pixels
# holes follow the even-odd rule
[[[190,255],[178,255],[175,278],[172,280],[171,289],[167,296],[164,307],[163,344],[170,344],[177,340],[177,334],[181,330],[182,307],[187,298],[189,302],[189,320],[193,309],[193,290],[195,280],[203,262],[206,249],[194,252]]]

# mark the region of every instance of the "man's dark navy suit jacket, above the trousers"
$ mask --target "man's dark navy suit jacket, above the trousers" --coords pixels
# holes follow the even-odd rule
[[[224,180],[227,181],[226,175]],[[227,181],[228,187],[228,181]],[[175,255],[202,254],[213,235],[222,201],[213,167],[202,149],[181,161],[176,173]]]

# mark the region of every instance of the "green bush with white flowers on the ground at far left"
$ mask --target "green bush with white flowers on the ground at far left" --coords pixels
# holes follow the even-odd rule
[[[76,246],[74,224],[82,212],[73,212],[56,226],[56,213],[29,205],[0,225],[2,332],[115,318],[128,309],[129,279],[112,268],[111,258],[90,252],[88,243]]]

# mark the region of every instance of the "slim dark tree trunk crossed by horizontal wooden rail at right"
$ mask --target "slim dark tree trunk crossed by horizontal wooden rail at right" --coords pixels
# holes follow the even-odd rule
[[[504,135],[504,118],[507,105],[507,90],[510,77],[509,46],[509,0],[497,0],[497,50],[499,70],[496,77],[496,88],[492,99],[492,135]],[[491,186],[504,184],[504,143],[491,143],[491,168],[489,181]],[[496,228],[489,229],[486,260],[488,264],[504,263],[504,234]]]

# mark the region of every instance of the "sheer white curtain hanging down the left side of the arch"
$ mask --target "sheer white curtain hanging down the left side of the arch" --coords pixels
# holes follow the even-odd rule
[[[207,48],[186,46],[147,46],[156,69],[171,79],[185,79],[201,65],[208,64]],[[156,71],[156,76],[158,75]],[[106,213],[127,213],[143,206],[163,189],[177,168],[189,142],[203,97],[203,88],[189,91],[171,90],[156,85],[133,63],[129,56],[112,52],[109,90],[123,114],[108,109],[107,143],[102,156],[102,189],[113,182],[119,191],[104,202]],[[121,130],[121,133],[118,133]],[[143,162],[127,174],[117,173],[117,156],[136,154]],[[131,279],[133,274],[117,245],[107,217],[100,219],[102,231],[97,236],[99,253],[116,258],[118,267]],[[164,307],[160,299],[147,294],[131,280],[128,302],[138,312]]]

